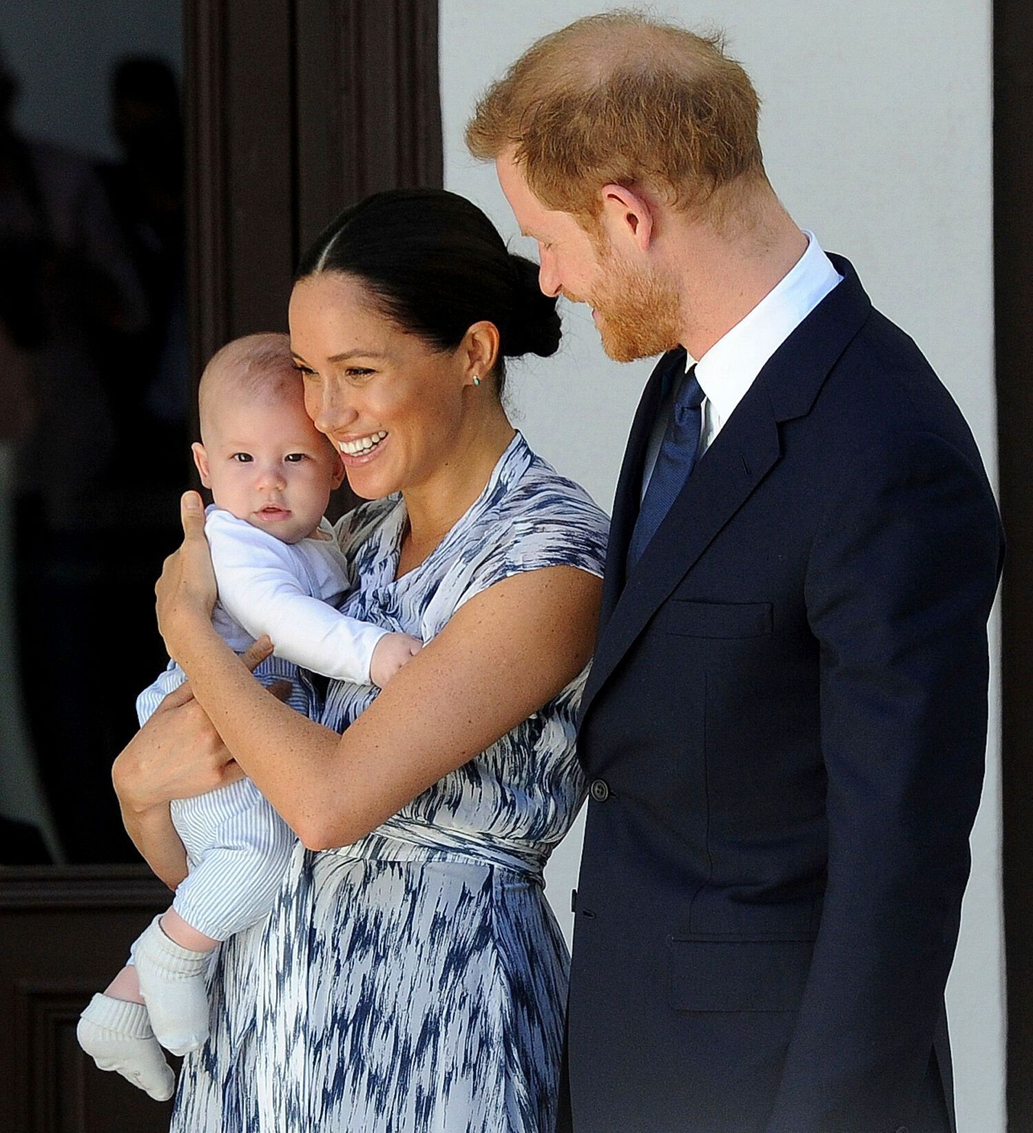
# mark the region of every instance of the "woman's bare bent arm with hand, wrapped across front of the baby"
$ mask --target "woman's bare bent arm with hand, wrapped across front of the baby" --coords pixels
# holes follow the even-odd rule
[[[233,758],[310,849],[350,844],[556,696],[588,662],[600,579],[514,574],[470,599],[339,736],[262,695],[212,630],[198,508],[159,583],[170,654]],[[208,607],[211,608],[211,607]]]

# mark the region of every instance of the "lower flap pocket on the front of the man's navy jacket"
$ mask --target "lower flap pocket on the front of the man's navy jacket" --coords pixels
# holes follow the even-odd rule
[[[671,1006],[678,1011],[795,1011],[812,940],[672,940]]]

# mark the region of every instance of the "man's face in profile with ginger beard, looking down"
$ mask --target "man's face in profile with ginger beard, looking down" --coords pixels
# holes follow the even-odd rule
[[[587,303],[616,361],[663,353],[678,342],[677,292],[655,271],[620,256],[605,227],[587,231],[570,213],[531,193],[512,153],[500,155],[498,182],[524,236],[538,241],[538,284],[546,295]]]

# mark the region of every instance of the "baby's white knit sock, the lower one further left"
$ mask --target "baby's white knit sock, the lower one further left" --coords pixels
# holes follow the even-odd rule
[[[142,1003],[95,995],[79,1016],[79,1046],[101,1070],[116,1070],[155,1101],[168,1101],[176,1075],[165,1062]]]

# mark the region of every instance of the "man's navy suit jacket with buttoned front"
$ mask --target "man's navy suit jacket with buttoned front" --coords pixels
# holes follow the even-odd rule
[[[961,412],[851,265],[628,578],[614,509],[560,1128],[953,1128],[944,986],[1000,522]]]

